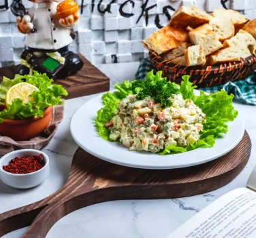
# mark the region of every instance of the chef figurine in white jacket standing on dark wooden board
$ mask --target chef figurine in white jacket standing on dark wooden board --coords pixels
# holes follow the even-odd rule
[[[27,34],[18,73],[27,75],[32,69],[54,78],[78,72],[84,63],[68,50],[73,41],[70,29],[80,18],[78,5],[73,0],[62,1],[59,5],[59,0],[31,1],[33,6],[29,12],[20,0],[14,0],[11,5],[12,13],[17,16],[18,31]]]

